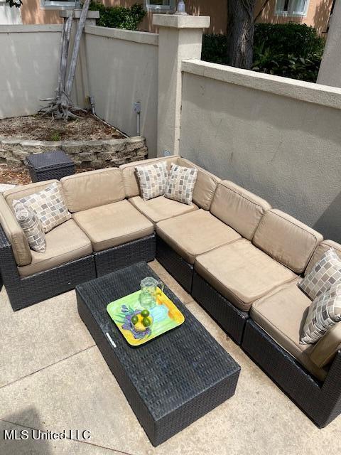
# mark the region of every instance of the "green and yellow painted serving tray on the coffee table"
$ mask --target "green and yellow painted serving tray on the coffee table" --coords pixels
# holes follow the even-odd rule
[[[140,304],[140,294],[141,291],[136,291],[133,294],[112,301],[107,306],[109,316],[131,346],[141,346],[153,340],[153,338],[180,326],[185,321],[185,317],[173,304],[173,301],[168,299],[168,296],[161,289],[157,288],[156,306],[153,309],[148,309],[151,325],[146,327],[144,331],[136,331],[131,318],[139,316],[141,311],[144,310]]]

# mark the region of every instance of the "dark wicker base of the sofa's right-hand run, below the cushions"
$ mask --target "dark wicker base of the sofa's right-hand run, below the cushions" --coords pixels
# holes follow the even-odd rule
[[[320,382],[160,237],[156,258],[317,427],[325,427],[341,414],[341,351],[332,361],[327,378]]]

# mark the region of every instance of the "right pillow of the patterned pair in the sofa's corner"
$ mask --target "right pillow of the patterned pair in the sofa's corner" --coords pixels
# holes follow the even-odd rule
[[[172,164],[166,187],[166,198],[192,205],[193,190],[196,181],[197,169],[184,168],[183,166]]]

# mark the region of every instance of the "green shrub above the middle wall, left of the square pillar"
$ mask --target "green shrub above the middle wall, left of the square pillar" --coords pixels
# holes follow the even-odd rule
[[[146,16],[144,7],[138,3],[131,6],[131,8],[124,8],[124,6],[104,6],[102,3],[92,1],[90,10],[99,11],[97,26],[126,28],[126,30],[136,30],[139,23]]]

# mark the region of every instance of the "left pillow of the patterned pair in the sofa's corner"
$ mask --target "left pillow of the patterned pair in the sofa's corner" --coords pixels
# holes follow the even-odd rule
[[[168,180],[166,161],[148,166],[136,166],[135,171],[139,178],[141,196],[144,200],[165,194]]]

